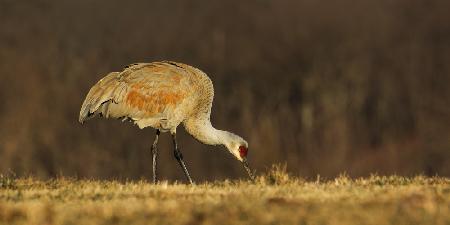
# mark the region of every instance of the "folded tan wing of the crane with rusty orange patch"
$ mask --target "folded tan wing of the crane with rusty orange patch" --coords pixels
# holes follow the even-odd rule
[[[139,63],[113,72],[89,91],[81,107],[79,121],[102,115],[164,119],[191,93],[189,71],[167,62]]]

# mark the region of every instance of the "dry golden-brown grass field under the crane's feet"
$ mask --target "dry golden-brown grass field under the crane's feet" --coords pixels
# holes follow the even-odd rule
[[[279,169],[255,184],[189,186],[0,177],[0,224],[450,224],[450,179],[304,181]]]

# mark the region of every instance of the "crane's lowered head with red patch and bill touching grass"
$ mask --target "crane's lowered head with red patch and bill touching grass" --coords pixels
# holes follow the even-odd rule
[[[247,153],[248,153],[248,143],[243,138],[227,132],[227,138],[224,143],[225,147],[228,149],[228,151],[236,157],[237,160],[241,161],[244,165],[245,170],[248,173],[248,176],[250,179],[254,180],[252,171],[250,167],[248,166],[247,162]]]

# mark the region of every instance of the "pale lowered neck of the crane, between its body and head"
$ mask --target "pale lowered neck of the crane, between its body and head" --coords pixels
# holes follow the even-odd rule
[[[195,118],[184,121],[186,131],[195,139],[208,145],[225,145],[229,132],[218,130],[211,124],[209,118]]]

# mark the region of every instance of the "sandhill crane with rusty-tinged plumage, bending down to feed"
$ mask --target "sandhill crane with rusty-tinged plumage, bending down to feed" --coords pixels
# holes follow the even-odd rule
[[[201,70],[171,62],[136,63],[122,72],[112,72],[89,91],[80,110],[80,123],[99,115],[134,122],[139,128],[153,127],[156,137],[151,147],[153,182],[157,183],[157,144],[160,132],[170,132],[174,156],[189,183],[193,183],[177,145],[176,129],[181,123],[200,142],[223,145],[241,161],[250,179],[248,143],[236,134],[211,125],[214,98],[212,81]]]

